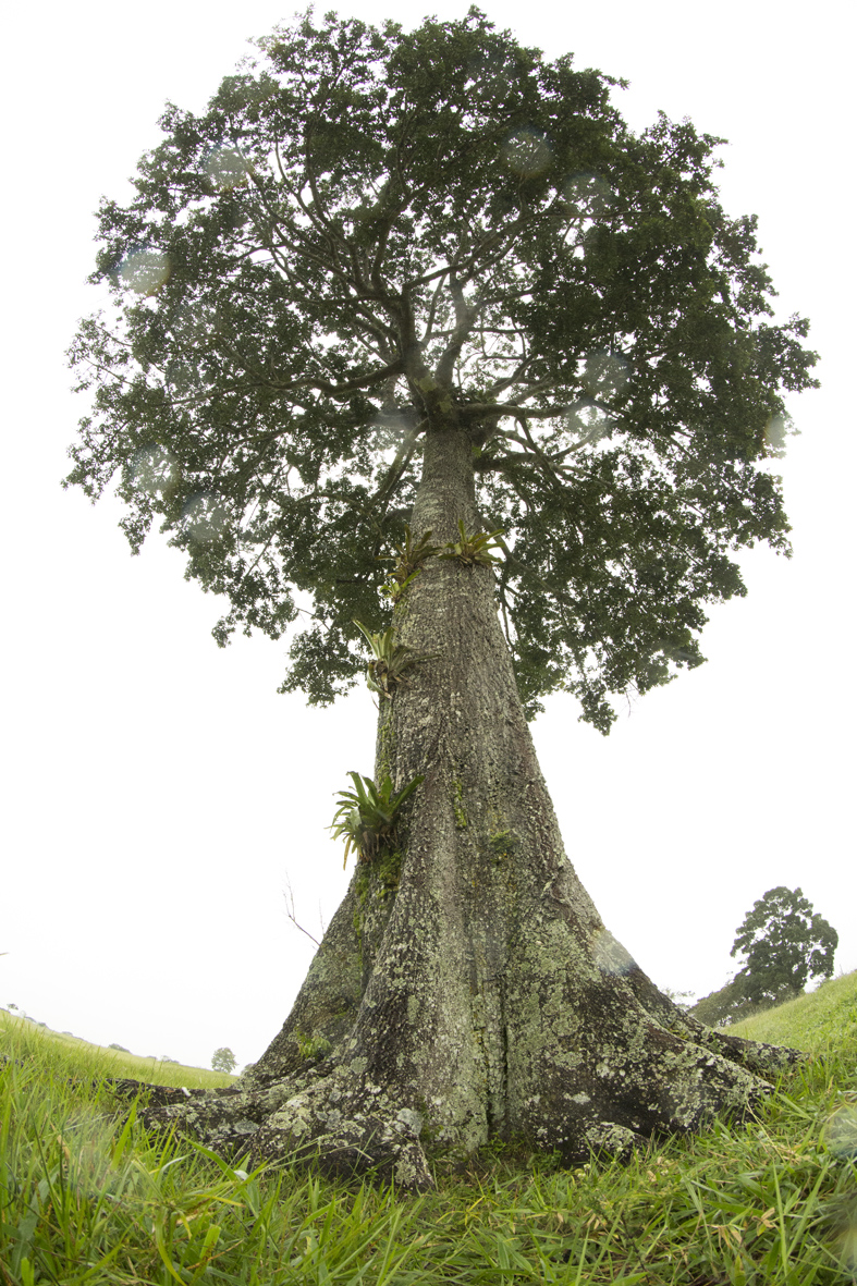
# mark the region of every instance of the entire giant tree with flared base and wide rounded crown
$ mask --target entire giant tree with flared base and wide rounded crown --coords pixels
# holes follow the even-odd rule
[[[292,630],[324,703],[371,646],[354,878],[234,1092],[149,1110],[260,1160],[428,1183],[423,1143],[624,1152],[766,1092],[788,1053],[712,1033],[605,928],[526,725],[703,657],[732,550],[788,553],[772,472],[807,323],[767,320],[719,140],[634,135],[619,82],[458,22],[311,14],[202,116],[169,107],[71,351],[93,394],[68,484],[118,478],[215,629]],[[385,572],[386,567],[391,571]]]

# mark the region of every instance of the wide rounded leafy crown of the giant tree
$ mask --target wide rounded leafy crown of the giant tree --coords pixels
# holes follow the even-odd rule
[[[71,349],[93,409],[67,485],[118,478],[226,595],[215,629],[291,642],[283,688],[355,682],[383,630],[378,556],[426,433],[472,446],[526,709],[703,660],[733,552],[788,552],[772,459],[813,383],[807,323],[769,320],[755,220],[724,213],[719,140],[546,62],[476,9],[405,32],[310,13],[207,111],[169,107],[135,195],[100,210],[112,306]],[[457,517],[457,516],[454,516]],[[405,538],[407,539],[407,538]]]

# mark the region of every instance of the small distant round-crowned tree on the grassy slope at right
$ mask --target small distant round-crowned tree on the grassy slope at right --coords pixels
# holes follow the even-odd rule
[[[754,1004],[780,1003],[803,992],[807,979],[830,977],[838,945],[839,934],[803,890],[768,889],[736,930],[730,954],[745,962],[735,984]]]

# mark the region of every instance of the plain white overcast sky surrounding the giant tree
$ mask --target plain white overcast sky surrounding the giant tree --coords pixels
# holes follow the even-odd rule
[[[426,6],[428,8],[428,6]],[[486,3],[498,26],[631,80],[731,140],[722,195],[759,215],[781,318],[812,319],[824,388],[793,405],[782,473],[791,562],[745,558],[709,665],[640,701],[605,741],[555,698],[535,724],[566,849],[614,934],[660,985],[722,985],[757,898],[800,885],[857,967],[853,841],[853,140],[845,9],[821,0]],[[378,21],[392,6],[353,0]],[[435,3],[441,18],[466,5]],[[422,5],[396,14],[412,24]],[[286,1019],[347,874],[324,827],[372,770],[368,693],[278,697],[283,644],[216,648],[220,615],[118,508],[63,493],[85,408],[63,351],[98,305],[93,211],[124,198],[166,99],[199,109],[290,8],[78,0],[6,17],[3,144],[5,691],[0,1003],[59,1030],[207,1066],[259,1057]]]

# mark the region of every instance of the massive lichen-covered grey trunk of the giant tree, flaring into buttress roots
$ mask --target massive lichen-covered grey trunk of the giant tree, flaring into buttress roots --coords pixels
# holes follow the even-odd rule
[[[414,538],[480,526],[471,446],[427,436]],[[376,782],[401,790],[396,851],[358,862],[282,1031],[228,1093],[149,1109],[252,1159],[311,1156],[430,1183],[426,1146],[492,1137],[627,1152],[744,1112],[793,1061],[661,995],[567,860],[497,616],[493,572],[431,558],[395,610],[423,655],[378,696]]]

